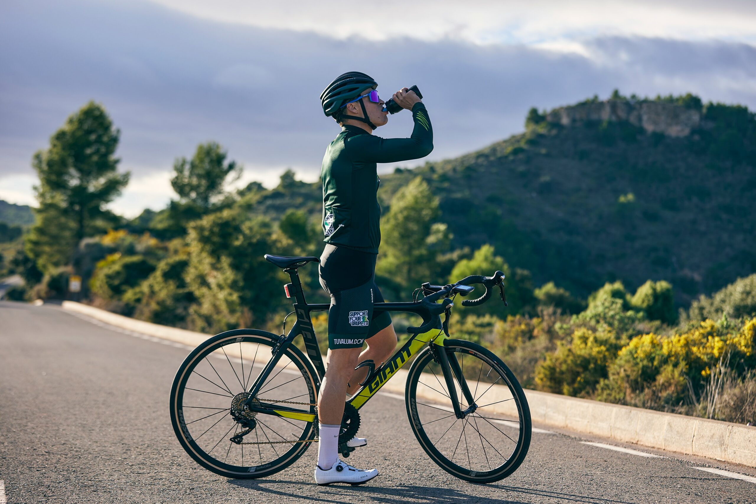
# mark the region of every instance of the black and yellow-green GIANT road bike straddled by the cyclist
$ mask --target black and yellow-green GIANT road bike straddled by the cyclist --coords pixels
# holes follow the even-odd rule
[[[181,363],[171,388],[171,421],[181,446],[204,468],[227,478],[273,475],[318,440],[318,390],[325,366],[310,314],[330,305],[305,301],[297,269],[319,259],[265,258],[291,280],[284,289],[293,299],[296,322],[288,334],[235,329],[215,335]],[[455,296],[469,295],[473,285],[482,284],[483,295],[463,305],[481,305],[495,287],[506,304],[503,280],[497,271],[446,286],[423,283],[413,301],[374,304],[374,313],[418,314],[423,324],[407,328],[411,338],[385,363],[376,367],[366,360],[355,368],[367,367],[367,377],[345,404],[342,456],[354,450],[347,441],[360,427],[359,410],[413,360],[404,392],[407,417],[428,456],[451,475],[477,483],[499,481],[519,467],[531,440],[522,387],[491,351],[449,335]],[[299,335],[306,356],[294,345]]]

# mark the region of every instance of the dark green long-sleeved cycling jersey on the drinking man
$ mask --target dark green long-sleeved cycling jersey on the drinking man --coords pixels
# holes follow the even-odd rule
[[[433,150],[433,128],[425,105],[414,104],[412,118],[410,138],[380,138],[357,126],[342,126],[326,150],[321,169],[324,242],[378,253],[376,163],[418,159]]]

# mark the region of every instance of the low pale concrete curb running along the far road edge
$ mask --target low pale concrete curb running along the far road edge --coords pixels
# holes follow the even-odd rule
[[[201,332],[134,320],[74,301],[64,301],[62,308],[122,329],[142,332],[184,345],[197,346],[210,337]],[[406,369],[398,369],[396,375],[383,386],[383,390],[404,394],[407,374]],[[430,390],[418,389],[417,392],[427,400],[440,401],[445,398],[442,394]],[[509,389],[503,385],[494,385],[488,394],[491,394],[491,403],[510,397]],[[525,390],[525,396],[528,398],[531,418],[539,425],[551,425],[623,443],[756,467],[756,427],[548,392]],[[511,401],[494,404],[486,410],[516,418],[516,410]]]

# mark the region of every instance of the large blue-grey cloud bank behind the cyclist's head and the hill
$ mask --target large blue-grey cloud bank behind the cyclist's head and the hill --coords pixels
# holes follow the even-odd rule
[[[0,16],[0,190],[9,175],[33,177],[34,150],[48,144],[68,114],[95,99],[122,131],[118,155],[132,184],[114,208],[129,215],[167,201],[169,187],[157,179],[149,184],[149,177],[162,173],[167,180],[173,159],[191,156],[203,141],[220,142],[242,162],[245,180],[274,185],[288,166],[315,180],[338,131],[318,95],[346,70],[370,73],[383,96],[404,85],[423,90],[435,130],[429,159],[521,131],[529,107],[606,97],[613,88],[642,95],[691,91],[705,100],[756,105],[756,50],[740,42],[638,36],[550,45],[371,41],[218,23],[149,2],[8,5]],[[399,113],[378,133],[406,136],[410,128],[409,114]],[[157,188],[166,191],[162,198]]]

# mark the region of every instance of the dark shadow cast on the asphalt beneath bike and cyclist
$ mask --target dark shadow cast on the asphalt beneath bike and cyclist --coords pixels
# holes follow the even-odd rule
[[[302,481],[283,481],[283,480],[228,480],[230,484],[234,484],[237,487],[243,487],[249,490],[256,490],[259,492],[267,493],[271,496],[278,498],[299,498],[307,499],[313,502],[327,502],[328,504],[342,504],[344,502],[345,493],[349,493],[351,497],[359,497],[361,499],[370,499],[375,502],[407,502],[409,499],[415,499],[418,502],[427,502],[429,504],[445,504],[447,502],[496,502],[497,504],[527,504],[521,500],[510,499],[496,499],[489,496],[480,496],[476,494],[476,487],[479,485],[469,484],[470,491],[466,493],[463,490],[456,490],[454,488],[438,488],[438,487],[419,487],[416,485],[403,484],[398,487],[381,487],[376,484],[370,484],[370,486],[334,486],[334,487],[317,487],[316,484]],[[284,490],[276,490],[271,488],[267,484],[296,484],[298,486],[304,485],[305,487],[311,487],[312,490],[318,492],[312,494],[308,492],[308,495],[303,493],[290,493]],[[603,499],[595,496],[584,496],[573,493],[554,492],[550,490],[538,490],[534,488],[525,487],[507,487],[504,485],[485,485],[485,487],[495,487],[503,492],[524,493],[530,496],[537,496],[541,498],[557,499],[565,502],[584,502],[586,504],[633,504],[632,502]],[[532,502],[532,501],[528,501]]]

